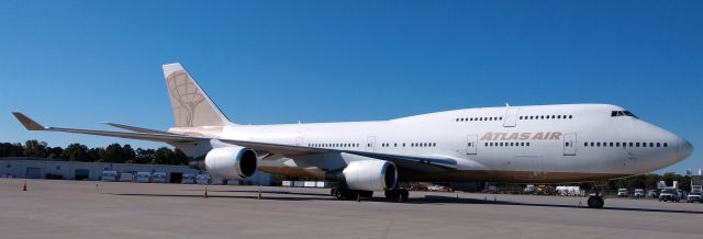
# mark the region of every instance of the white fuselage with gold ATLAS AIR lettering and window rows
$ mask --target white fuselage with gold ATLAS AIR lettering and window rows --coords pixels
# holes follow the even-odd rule
[[[457,161],[457,170],[451,172],[401,171],[403,180],[578,182],[650,172],[691,153],[691,145],[670,132],[634,116],[612,115],[624,111],[607,104],[504,106],[379,122],[233,125],[210,133],[181,127],[170,132]],[[344,166],[332,158],[320,160],[320,156],[288,157],[261,162],[260,169],[320,175]]]

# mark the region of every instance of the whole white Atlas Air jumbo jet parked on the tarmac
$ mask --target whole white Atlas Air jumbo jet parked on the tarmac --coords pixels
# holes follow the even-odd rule
[[[29,130],[65,132],[169,144],[190,167],[227,179],[257,170],[338,182],[334,197],[408,200],[400,182],[594,182],[648,173],[693,152],[689,141],[610,104],[454,110],[389,121],[238,125],[180,64],[163,66],[176,125],[156,130],[45,127],[20,112]],[[596,191],[588,206],[601,208]]]

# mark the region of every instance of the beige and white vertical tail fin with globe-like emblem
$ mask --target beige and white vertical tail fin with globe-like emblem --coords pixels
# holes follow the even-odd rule
[[[167,64],[163,67],[176,127],[232,124],[180,64]]]

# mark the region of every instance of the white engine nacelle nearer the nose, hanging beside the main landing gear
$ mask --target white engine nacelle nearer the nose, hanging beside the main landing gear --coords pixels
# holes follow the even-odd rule
[[[392,190],[398,182],[395,164],[378,159],[349,162],[342,174],[347,186],[352,190]]]

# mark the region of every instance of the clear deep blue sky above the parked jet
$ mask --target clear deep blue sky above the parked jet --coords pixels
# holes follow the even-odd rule
[[[701,168],[701,1],[0,1],[0,141],[11,116],[172,124],[180,61],[241,124],[387,120],[476,106],[612,103],[674,132]]]

